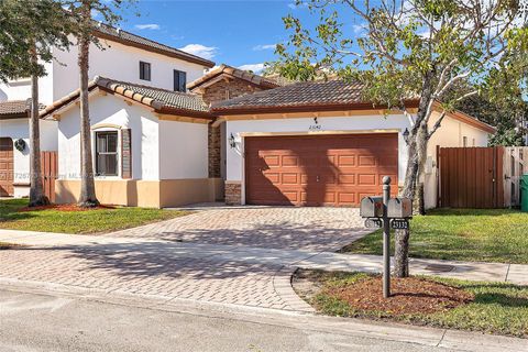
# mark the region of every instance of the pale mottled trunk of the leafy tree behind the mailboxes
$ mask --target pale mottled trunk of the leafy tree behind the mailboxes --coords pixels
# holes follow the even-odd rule
[[[407,162],[405,184],[402,196],[413,200],[416,198],[416,187],[427,156],[427,124],[429,120],[429,117],[427,116],[427,107],[432,98],[432,77],[435,77],[435,73],[430,72],[424,79],[416,125],[411,129],[409,134],[409,160]],[[409,276],[409,229],[396,230],[394,249],[394,275],[396,277]]]

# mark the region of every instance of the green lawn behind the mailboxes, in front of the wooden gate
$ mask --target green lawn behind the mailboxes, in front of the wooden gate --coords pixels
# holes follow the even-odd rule
[[[528,264],[528,213],[437,209],[415,217],[410,228],[414,257]],[[382,232],[369,234],[342,252],[382,254]]]

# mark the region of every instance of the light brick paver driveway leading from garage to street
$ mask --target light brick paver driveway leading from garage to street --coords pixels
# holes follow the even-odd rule
[[[200,210],[105,237],[121,243],[0,251],[0,279],[306,310],[284,267],[288,253],[310,255],[364,234],[356,209]]]

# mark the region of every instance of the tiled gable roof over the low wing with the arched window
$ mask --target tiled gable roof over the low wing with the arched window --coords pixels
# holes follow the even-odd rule
[[[209,113],[208,106],[199,95],[172,91],[99,76],[89,84],[88,90],[91,91],[96,88],[151,107],[158,113],[207,119],[212,117]],[[45,118],[53,114],[57,110],[75,102],[79,99],[79,89],[73,91],[41,111],[41,117]]]

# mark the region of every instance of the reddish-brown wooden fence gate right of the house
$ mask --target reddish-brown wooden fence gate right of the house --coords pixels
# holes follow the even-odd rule
[[[504,147],[439,147],[442,208],[503,208]]]

